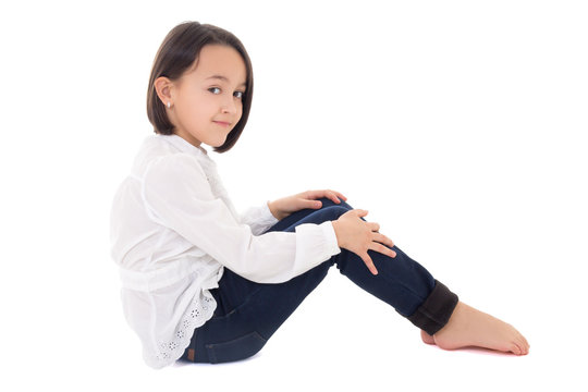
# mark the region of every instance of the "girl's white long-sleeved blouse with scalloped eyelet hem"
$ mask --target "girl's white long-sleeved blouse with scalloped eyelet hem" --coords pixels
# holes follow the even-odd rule
[[[223,267],[260,283],[285,282],[341,252],[332,222],[264,233],[278,220],[265,204],[238,216],[204,148],[176,135],[148,137],[111,212],[126,320],[147,365],[179,359],[212,317]]]

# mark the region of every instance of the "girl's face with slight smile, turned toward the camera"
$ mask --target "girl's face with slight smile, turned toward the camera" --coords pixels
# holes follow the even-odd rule
[[[245,62],[232,47],[207,45],[195,64],[172,82],[166,110],[176,135],[194,146],[219,147],[243,113]]]

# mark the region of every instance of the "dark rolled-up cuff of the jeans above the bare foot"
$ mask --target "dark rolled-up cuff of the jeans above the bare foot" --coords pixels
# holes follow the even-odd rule
[[[408,321],[430,335],[436,334],[448,323],[455,306],[457,295],[452,293],[443,283],[434,281],[434,287],[427,299],[408,316]]]

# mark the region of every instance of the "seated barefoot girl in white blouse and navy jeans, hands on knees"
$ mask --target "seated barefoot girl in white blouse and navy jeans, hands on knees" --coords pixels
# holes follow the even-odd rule
[[[458,301],[339,192],[269,201],[240,216],[204,145],[229,151],[249,114],[249,57],[231,33],[196,22],[157,52],[140,148],[112,206],[122,302],[155,368],[256,354],[333,265],[442,348],[528,353],[513,327]]]

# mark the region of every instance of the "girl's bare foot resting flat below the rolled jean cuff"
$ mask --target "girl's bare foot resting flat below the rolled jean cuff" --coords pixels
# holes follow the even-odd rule
[[[434,335],[421,331],[425,343],[434,344],[444,350],[461,347],[483,347],[515,355],[527,355],[529,343],[513,326],[473,308],[457,303],[445,327]]]

